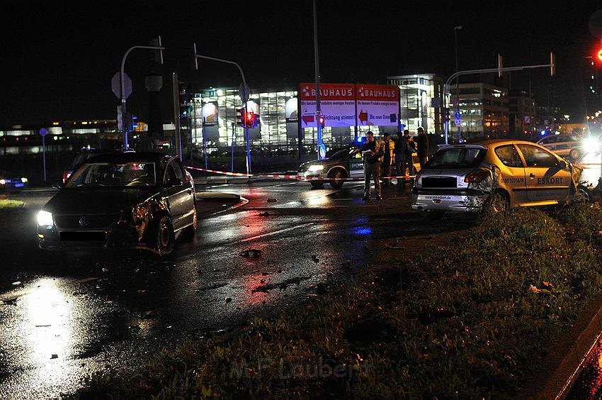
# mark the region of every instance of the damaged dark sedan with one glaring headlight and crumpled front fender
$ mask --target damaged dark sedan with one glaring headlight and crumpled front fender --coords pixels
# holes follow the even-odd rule
[[[194,182],[178,157],[98,155],[38,213],[43,250],[142,248],[168,255],[197,227]]]

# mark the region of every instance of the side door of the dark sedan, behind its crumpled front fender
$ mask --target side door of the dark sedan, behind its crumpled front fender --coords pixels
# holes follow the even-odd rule
[[[163,187],[174,230],[190,224],[194,213],[193,189],[186,181],[186,175],[178,160],[171,160],[166,165]]]

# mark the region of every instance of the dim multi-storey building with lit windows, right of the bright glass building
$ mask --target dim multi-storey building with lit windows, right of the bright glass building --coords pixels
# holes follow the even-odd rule
[[[450,87],[450,132],[455,132],[455,112],[460,111],[462,138],[506,138],[509,135],[508,89],[485,83]]]

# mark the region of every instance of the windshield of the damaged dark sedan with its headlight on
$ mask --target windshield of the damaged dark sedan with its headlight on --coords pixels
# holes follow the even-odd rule
[[[79,167],[66,187],[135,188],[154,186],[156,182],[154,162],[94,162]]]

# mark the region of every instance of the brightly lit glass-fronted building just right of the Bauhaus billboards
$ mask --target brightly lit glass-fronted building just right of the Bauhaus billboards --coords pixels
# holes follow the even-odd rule
[[[437,74],[387,77],[387,84],[399,87],[399,120],[411,132],[422,126],[427,133],[443,135],[443,84]]]

